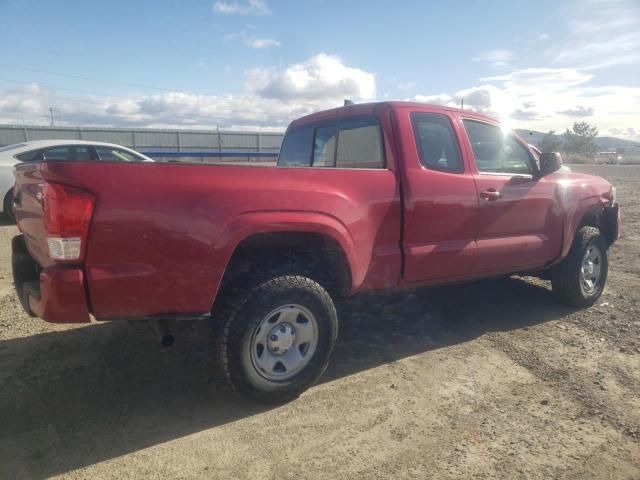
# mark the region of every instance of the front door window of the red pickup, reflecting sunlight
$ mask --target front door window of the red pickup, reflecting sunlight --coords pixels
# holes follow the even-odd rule
[[[478,171],[530,174],[531,156],[511,134],[488,123],[463,120]]]

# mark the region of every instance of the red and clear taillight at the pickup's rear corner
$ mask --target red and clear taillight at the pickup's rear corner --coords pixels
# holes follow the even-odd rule
[[[56,260],[80,259],[89,233],[93,195],[57,183],[46,183],[42,193],[49,256]]]

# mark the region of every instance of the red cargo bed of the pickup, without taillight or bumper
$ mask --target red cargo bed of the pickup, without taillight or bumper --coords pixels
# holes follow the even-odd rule
[[[208,314],[257,224],[259,233],[295,225],[334,238],[349,254],[352,291],[399,281],[400,196],[389,170],[43,162],[18,166],[16,177],[18,226],[41,280],[76,272],[97,319]],[[47,255],[46,183],[95,198],[80,260]]]

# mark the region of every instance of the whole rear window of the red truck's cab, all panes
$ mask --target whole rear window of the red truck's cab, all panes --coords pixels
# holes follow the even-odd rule
[[[384,168],[380,125],[357,117],[305,127],[286,134],[279,166]]]

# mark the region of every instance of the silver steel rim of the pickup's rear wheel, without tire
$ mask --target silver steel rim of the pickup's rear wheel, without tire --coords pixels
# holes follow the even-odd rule
[[[306,367],[318,346],[318,323],[309,309],[287,304],[265,315],[251,336],[251,364],[270,381],[285,381]]]

